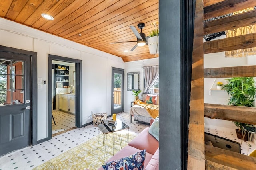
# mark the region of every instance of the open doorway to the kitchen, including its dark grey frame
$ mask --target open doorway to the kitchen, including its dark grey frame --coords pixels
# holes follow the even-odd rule
[[[82,126],[82,61],[56,55],[48,60],[48,139]]]

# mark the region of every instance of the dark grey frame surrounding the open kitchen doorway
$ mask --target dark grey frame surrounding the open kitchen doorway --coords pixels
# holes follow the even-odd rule
[[[82,60],[49,54],[48,57],[48,137],[52,139],[52,61],[75,63],[76,71],[76,127],[82,127]]]

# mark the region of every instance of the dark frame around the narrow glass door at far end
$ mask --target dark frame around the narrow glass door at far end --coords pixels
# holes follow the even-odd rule
[[[122,71],[123,72],[123,76],[122,76],[122,91],[121,91],[121,106],[122,106],[122,111],[124,111],[124,69],[122,68],[116,68],[116,67],[112,67],[111,69],[111,115],[114,113],[114,98],[113,96],[113,90],[114,90],[114,74],[113,74],[113,70],[118,70],[118,71]]]

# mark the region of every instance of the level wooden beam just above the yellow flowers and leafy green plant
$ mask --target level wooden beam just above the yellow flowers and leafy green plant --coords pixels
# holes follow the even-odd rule
[[[256,77],[256,66],[205,68],[204,78]]]

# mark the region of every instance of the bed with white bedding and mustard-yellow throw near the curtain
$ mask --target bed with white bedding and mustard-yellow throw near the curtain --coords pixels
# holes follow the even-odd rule
[[[140,123],[150,123],[150,119],[156,118],[159,114],[159,105],[142,102],[141,100],[135,100],[134,105],[130,109],[130,117],[134,121]]]

